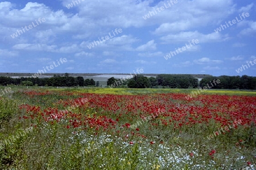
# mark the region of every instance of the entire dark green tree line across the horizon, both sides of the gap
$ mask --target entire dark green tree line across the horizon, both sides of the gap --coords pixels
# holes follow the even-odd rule
[[[147,77],[141,74],[134,75],[131,79],[115,79],[109,78],[107,85],[110,88],[128,87],[128,88],[197,88],[204,87],[214,79],[220,79],[219,84],[213,86],[215,89],[238,89],[238,90],[256,90],[255,76],[206,76],[200,83],[192,75],[187,74],[159,74],[156,77]],[[59,86],[59,87],[75,87],[75,86],[99,86],[99,82],[93,79],[84,79],[82,76],[65,76],[54,75],[51,78],[11,78],[0,76],[1,86]]]

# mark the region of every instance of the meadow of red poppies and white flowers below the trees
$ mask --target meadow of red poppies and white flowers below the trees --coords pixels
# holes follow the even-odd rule
[[[255,169],[256,91],[11,88],[0,169]]]

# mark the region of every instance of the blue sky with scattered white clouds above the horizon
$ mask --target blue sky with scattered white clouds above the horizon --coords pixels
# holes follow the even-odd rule
[[[256,76],[255,14],[253,0],[0,1],[0,72]]]

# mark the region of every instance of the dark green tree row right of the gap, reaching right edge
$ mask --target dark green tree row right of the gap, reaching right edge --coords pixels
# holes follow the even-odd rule
[[[147,78],[143,75],[135,75],[133,78],[123,81],[114,77],[108,79],[108,87],[129,88],[197,88],[207,86],[213,80],[219,79],[221,83],[212,88],[215,89],[237,89],[256,90],[255,76],[206,76],[200,83],[192,75],[159,74],[156,77]]]

